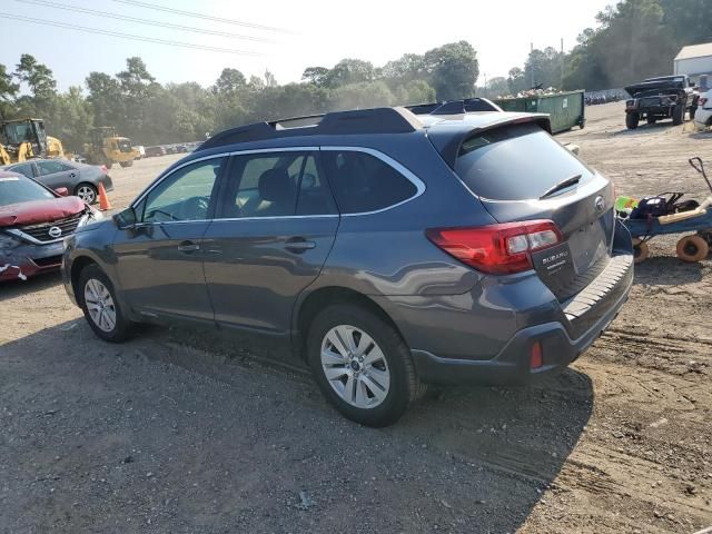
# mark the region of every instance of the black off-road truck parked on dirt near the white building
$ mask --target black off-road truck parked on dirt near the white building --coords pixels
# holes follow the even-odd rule
[[[682,125],[685,111],[690,111],[690,118],[694,118],[698,109],[699,95],[686,76],[649,78],[627,86],[625,91],[631,96],[625,101],[625,126],[629,130],[637,128],[643,119],[649,125],[659,119],[672,119],[673,125]]]

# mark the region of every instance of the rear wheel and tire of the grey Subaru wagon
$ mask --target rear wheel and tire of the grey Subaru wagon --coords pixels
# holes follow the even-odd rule
[[[405,342],[393,326],[362,306],[333,305],[317,314],[307,335],[307,359],[327,400],[362,425],[394,424],[419,394]],[[347,389],[349,385],[354,387]]]

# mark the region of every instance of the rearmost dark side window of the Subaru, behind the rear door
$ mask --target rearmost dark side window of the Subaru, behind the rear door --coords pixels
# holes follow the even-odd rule
[[[376,211],[417,192],[415,184],[369,154],[323,150],[322,158],[342,214]]]

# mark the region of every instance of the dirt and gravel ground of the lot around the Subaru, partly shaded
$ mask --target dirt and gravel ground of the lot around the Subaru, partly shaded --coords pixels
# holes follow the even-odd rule
[[[560,136],[619,194],[702,195],[712,134],[587,108]],[[128,204],[177,157],[112,170]],[[208,330],[100,343],[59,276],[0,287],[0,532],[693,533],[712,525],[712,263],[652,241],[571,369],[352,424],[296,365]],[[291,362],[294,364],[294,362]]]

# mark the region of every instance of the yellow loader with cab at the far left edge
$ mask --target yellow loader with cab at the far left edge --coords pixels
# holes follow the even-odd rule
[[[65,158],[62,144],[44,131],[42,119],[0,121],[0,165],[30,158]]]

